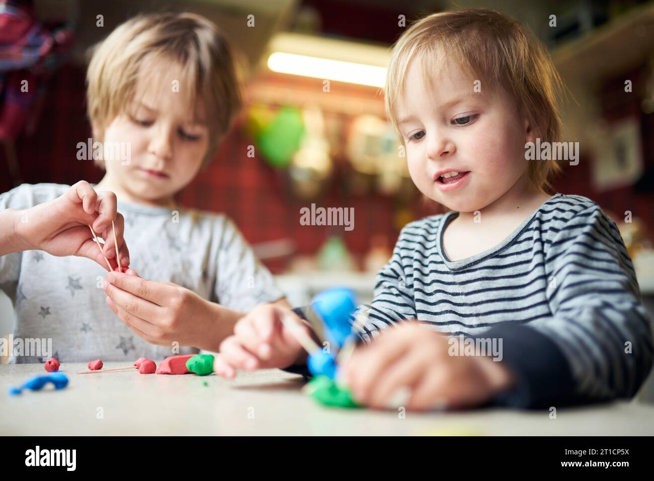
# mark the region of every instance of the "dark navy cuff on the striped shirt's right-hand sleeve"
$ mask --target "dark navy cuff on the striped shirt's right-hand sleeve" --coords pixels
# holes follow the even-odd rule
[[[513,388],[490,406],[549,408],[574,403],[574,378],[563,353],[549,337],[515,322],[503,322],[479,338],[502,339],[502,362],[515,376]]]

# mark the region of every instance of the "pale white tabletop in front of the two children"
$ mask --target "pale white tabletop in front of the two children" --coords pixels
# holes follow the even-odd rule
[[[106,363],[103,369],[123,367]],[[636,401],[530,412],[348,410],[318,405],[301,391],[300,376],[279,370],[169,376],[86,371],[65,363],[67,388],[10,396],[41,364],[0,365],[0,435],[654,435],[654,406]],[[203,382],[208,386],[204,386]],[[103,418],[97,418],[102,408]]]

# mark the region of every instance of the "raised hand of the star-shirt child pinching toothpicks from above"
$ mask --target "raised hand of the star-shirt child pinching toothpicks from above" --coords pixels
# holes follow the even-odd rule
[[[20,211],[14,229],[21,239],[22,250],[39,249],[53,256],[88,257],[107,269],[104,254],[115,269],[118,263],[111,221],[116,225],[120,261],[127,267],[129,252],[123,239],[124,219],[116,212],[116,195],[95,192],[84,180],[57,199]],[[105,240],[102,251],[92,238],[89,225]]]

